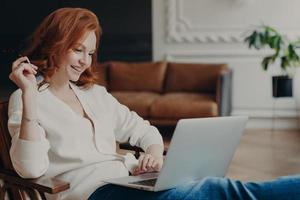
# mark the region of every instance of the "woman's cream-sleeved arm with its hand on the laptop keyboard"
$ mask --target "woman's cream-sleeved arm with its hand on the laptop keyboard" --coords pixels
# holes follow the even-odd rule
[[[108,102],[113,105],[112,113],[115,116],[117,141],[129,141],[132,146],[139,146],[145,151],[145,154],[139,157],[139,165],[133,174],[160,171],[163,165],[164,145],[157,128],[151,126],[135,112],[131,112],[110,94],[107,97]]]

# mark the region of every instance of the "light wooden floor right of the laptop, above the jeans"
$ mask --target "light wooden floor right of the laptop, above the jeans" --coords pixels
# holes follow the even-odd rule
[[[246,130],[227,177],[261,181],[300,173],[300,131]]]

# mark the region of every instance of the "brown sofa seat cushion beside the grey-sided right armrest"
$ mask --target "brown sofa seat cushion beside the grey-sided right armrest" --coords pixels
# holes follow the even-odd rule
[[[150,118],[194,118],[218,116],[215,96],[199,93],[167,93],[157,98],[150,109]]]

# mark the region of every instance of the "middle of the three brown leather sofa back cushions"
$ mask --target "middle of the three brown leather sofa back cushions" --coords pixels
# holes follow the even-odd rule
[[[111,91],[161,92],[166,68],[165,62],[111,62],[110,89]]]

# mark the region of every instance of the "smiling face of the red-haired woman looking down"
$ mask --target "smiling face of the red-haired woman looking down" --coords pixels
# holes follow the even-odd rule
[[[84,37],[70,49],[66,59],[58,71],[63,71],[71,81],[77,81],[80,75],[91,66],[92,55],[96,51],[96,35],[94,31],[87,32]]]

